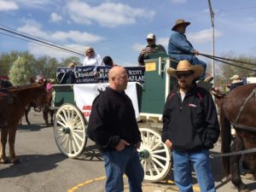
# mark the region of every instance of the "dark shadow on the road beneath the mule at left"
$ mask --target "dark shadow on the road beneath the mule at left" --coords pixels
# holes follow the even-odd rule
[[[20,163],[9,165],[0,165],[8,166],[0,170],[0,178],[6,177],[20,177],[22,175],[27,175],[32,172],[47,172],[49,170],[55,169],[57,163],[62,160],[66,160],[67,157],[62,154],[49,154],[49,155],[40,155],[40,154],[29,154],[29,155],[20,155]]]

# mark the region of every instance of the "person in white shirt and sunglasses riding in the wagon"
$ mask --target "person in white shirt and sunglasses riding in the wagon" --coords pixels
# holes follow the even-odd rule
[[[102,57],[95,53],[92,47],[85,50],[85,58],[83,66],[105,66],[102,62]]]

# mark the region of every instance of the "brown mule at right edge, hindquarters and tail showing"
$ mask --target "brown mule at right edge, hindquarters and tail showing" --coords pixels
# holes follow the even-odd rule
[[[222,153],[256,148],[256,84],[245,84],[232,90],[228,96],[217,96],[221,125]],[[230,124],[235,127],[236,138],[231,144]],[[241,181],[239,161],[241,155],[223,158],[226,177],[238,191],[247,192],[247,185]],[[250,172],[256,177],[256,153],[244,154],[243,159]]]

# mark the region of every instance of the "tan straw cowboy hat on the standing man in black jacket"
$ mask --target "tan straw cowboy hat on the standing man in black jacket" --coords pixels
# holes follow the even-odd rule
[[[172,67],[167,68],[167,73],[175,78],[177,78],[177,72],[187,71],[193,71],[195,78],[198,78],[204,73],[204,67],[202,67],[201,65],[193,66],[189,61],[182,60],[178,62],[177,69],[174,69]]]

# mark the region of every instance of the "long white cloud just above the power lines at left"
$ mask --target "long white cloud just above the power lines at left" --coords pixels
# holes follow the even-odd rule
[[[68,31],[68,32],[44,32],[42,26],[35,20],[26,20],[25,26],[21,26],[17,30],[32,34],[38,38],[44,38],[49,41],[58,42],[74,42],[79,44],[95,43],[103,38],[88,32]]]

